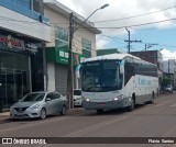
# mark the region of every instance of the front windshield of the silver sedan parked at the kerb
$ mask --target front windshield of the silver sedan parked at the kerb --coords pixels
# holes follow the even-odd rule
[[[34,101],[42,101],[45,93],[29,93],[24,98],[22,98],[21,102],[34,102]]]

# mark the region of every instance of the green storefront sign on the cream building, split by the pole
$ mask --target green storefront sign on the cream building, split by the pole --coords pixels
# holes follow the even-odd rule
[[[86,57],[73,53],[73,65],[79,65]],[[46,61],[48,63],[58,63],[58,64],[68,64],[68,46],[64,47],[47,47],[46,48]]]

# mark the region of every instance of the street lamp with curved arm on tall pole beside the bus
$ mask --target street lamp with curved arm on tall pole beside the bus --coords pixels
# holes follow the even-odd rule
[[[98,10],[105,9],[106,7],[108,7],[109,4],[103,4],[102,7],[96,9],[87,19],[85,19],[81,24],[86,23],[86,21],[94,14],[96,13]],[[80,24],[80,25],[81,25]],[[79,26],[80,26],[79,25]],[[73,12],[69,14],[69,48],[68,48],[68,72],[67,72],[67,100],[69,103],[69,109],[74,108],[74,101],[73,101],[73,37],[74,37],[74,33],[76,32],[76,30],[78,30],[77,26],[75,29],[74,26],[74,14]]]

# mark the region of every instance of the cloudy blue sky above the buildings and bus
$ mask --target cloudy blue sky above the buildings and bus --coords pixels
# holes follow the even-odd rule
[[[131,52],[161,50],[163,59],[176,59],[176,0],[57,0],[73,11],[88,18],[101,30],[97,49],[118,48],[128,52],[130,31]],[[128,30],[128,31],[127,31]],[[152,44],[152,45],[150,45]]]

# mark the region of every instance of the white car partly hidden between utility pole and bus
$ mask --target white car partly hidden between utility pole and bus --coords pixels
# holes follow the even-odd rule
[[[81,90],[74,89],[74,105],[81,106],[82,98],[81,98]]]

